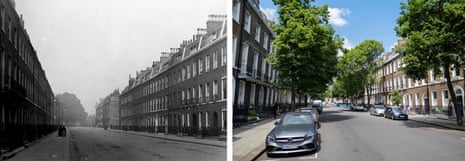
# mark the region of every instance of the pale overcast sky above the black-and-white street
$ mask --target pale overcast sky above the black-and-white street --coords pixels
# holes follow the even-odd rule
[[[226,14],[225,0],[16,0],[55,94],[78,96],[95,113],[99,98]]]

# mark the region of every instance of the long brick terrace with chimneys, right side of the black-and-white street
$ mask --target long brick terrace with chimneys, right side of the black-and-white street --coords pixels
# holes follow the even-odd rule
[[[226,133],[226,16],[163,52],[160,61],[129,76],[120,95],[123,130],[178,135]]]

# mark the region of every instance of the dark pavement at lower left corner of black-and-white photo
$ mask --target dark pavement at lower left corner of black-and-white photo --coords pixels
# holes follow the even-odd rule
[[[66,137],[58,137],[58,132],[45,136],[29,148],[16,153],[7,161],[69,161],[69,134]]]

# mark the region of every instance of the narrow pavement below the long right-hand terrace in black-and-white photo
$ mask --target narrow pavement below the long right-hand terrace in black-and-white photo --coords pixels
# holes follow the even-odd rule
[[[219,140],[218,136],[216,137],[204,137],[204,138],[196,138],[193,136],[176,136],[173,134],[154,134],[154,133],[147,133],[147,132],[136,132],[136,131],[124,131],[124,130],[115,130],[115,129],[108,129],[109,131],[119,132],[119,133],[126,133],[132,135],[139,135],[139,136],[146,136],[158,139],[165,139],[165,140],[172,140],[172,141],[181,141],[187,143],[194,143],[194,144],[202,144],[202,145],[210,145],[210,146],[217,146],[217,147],[226,147],[226,140]]]

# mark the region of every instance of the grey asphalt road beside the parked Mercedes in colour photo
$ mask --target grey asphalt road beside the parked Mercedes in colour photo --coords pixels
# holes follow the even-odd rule
[[[316,153],[257,160],[463,161],[465,132],[423,123],[324,109],[321,149]]]

